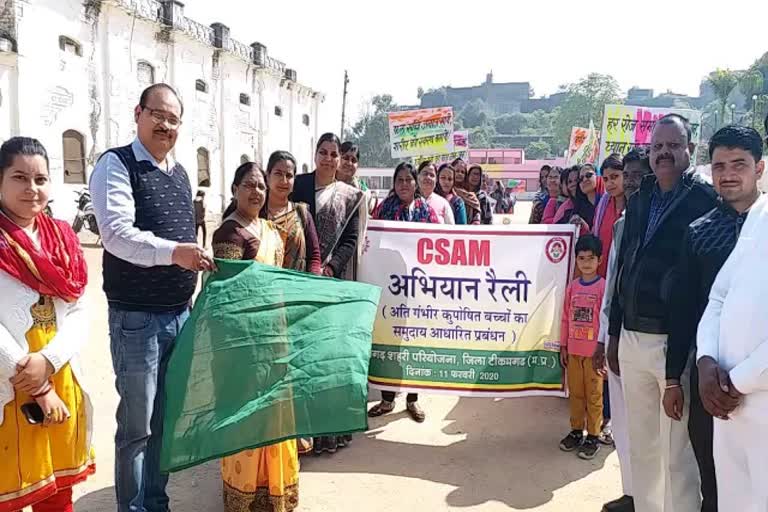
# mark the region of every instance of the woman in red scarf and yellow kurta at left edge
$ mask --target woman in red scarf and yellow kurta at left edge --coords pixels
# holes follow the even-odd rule
[[[68,512],[95,470],[78,352],[87,269],[64,222],[44,213],[48,156],[35,139],[0,147],[0,512]]]

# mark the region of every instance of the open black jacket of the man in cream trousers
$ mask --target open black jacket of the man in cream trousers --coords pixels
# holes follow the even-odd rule
[[[717,204],[712,186],[694,171],[687,171],[680,179],[679,192],[647,241],[656,177],[646,176],[640,190],[629,199],[611,304],[611,336],[619,336],[622,326],[647,334],[669,333],[669,300],[682,247],[680,241],[688,225]]]

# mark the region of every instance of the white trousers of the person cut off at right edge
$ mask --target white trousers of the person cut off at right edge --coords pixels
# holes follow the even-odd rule
[[[742,407],[750,406],[749,398]],[[740,407],[728,421],[715,418],[712,448],[720,511],[768,510],[768,421],[755,420],[765,415],[765,404],[759,406],[760,411]]]

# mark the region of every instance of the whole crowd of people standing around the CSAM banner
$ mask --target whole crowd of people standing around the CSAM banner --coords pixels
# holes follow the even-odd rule
[[[489,192],[482,167],[461,159],[399,164],[378,202],[356,176],[359,148],[328,133],[312,173],[297,175],[287,151],[272,153],[266,169],[238,167],[208,252],[205,233],[197,239],[204,195],[193,198],[171,157],[183,113],[170,86],[147,88],[134,111],[137,137],[105,152],[90,179],[120,397],[121,512],[169,510],[159,466],[165,372],[199,273],[215,271],[214,258],[355,279],[369,218],[479,225],[515,206],[511,183]],[[657,121],[648,151],[611,155],[599,168],[541,169],[530,222],[572,224],[580,234],[560,329],[570,390],[560,448],[592,459],[601,444],[615,444],[624,495],[607,512],[768,509],[762,144],[751,128],[718,131],[708,149],[713,186],[692,168],[688,121],[671,114]],[[72,487],[95,471],[93,407],[79,363],[88,271],[72,229],[45,213],[50,193],[45,148],[28,137],[3,143],[0,512],[72,511]],[[395,396],[382,393],[369,416],[393,411]],[[408,394],[406,410],[423,422],[418,398]],[[325,435],[225,457],[224,509],[294,510],[299,455],[350,442]]]

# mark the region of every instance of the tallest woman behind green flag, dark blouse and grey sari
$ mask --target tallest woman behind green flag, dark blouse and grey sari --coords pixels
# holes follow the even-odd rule
[[[357,270],[360,209],[365,195],[336,179],[341,164],[341,141],[333,133],[320,136],[315,148],[315,171],[296,176],[292,200],[309,205],[320,242],[324,276],[354,281]],[[335,453],[352,440],[330,435],[313,440],[315,455]]]

